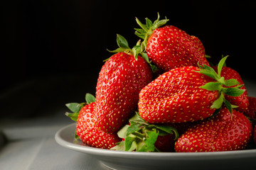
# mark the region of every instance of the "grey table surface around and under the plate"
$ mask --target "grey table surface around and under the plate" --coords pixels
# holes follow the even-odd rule
[[[256,96],[256,84],[250,81],[245,84],[248,94]],[[73,123],[65,117],[65,111],[63,106],[50,116],[0,120],[0,170],[107,169],[94,157],[55,142],[55,132]]]

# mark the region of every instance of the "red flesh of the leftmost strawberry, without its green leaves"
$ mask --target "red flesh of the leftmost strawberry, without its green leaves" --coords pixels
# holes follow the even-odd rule
[[[115,133],[106,133],[95,128],[95,106],[96,103],[90,103],[81,108],[78,115],[76,127],[77,135],[80,140],[91,147],[110,149],[120,141]]]

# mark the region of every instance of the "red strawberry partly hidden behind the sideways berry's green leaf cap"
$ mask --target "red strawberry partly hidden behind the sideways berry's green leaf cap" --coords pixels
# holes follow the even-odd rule
[[[213,69],[215,69],[216,72],[218,71],[218,67],[213,67]],[[244,84],[242,81],[242,78],[240,77],[240,74],[236,72],[234,69],[231,69],[230,67],[223,67],[223,69],[221,70],[220,76],[224,77],[224,79],[236,79],[239,82],[239,84]],[[247,110],[249,101],[248,101],[248,96],[247,96],[247,91],[245,86],[242,86],[240,89],[245,90],[245,92],[240,96],[233,97],[233,96],[226,95],[225,98],[228,101],[230,101],[231,104],[235,106],[239,106],[238,107],[239,111],[244,112]]]

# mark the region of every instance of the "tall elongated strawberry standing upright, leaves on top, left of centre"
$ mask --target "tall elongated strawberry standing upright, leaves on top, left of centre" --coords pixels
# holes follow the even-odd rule
[[[117,35],[119,48],[100,70],[96,86],[95,126],[104,132],[116,132],[137,109],[139,91],[152,80],[146,61],[134,56],[127,40]],[[122,52],[124,51],[124,52]]]

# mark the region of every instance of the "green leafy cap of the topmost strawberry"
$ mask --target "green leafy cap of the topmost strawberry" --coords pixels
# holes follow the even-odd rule
[[[136,30],[135,35],[144,40],[141,45],[142,51],[144,52],[146,50],[147,40],[149,39],[153,31],[156,28],[159,28],[160,26],[166,24],[169,19],[165,18],[163,20],[160,20],[160,15],[159,13],[157,13],[157,19],[156,21],[154,21],[154,23],[149,20],[149,18],[146,18],[146,24],[143,24],[141,21],[139,21],[138,18],[136,18],[136,21],[141,28],[134,28]]]

